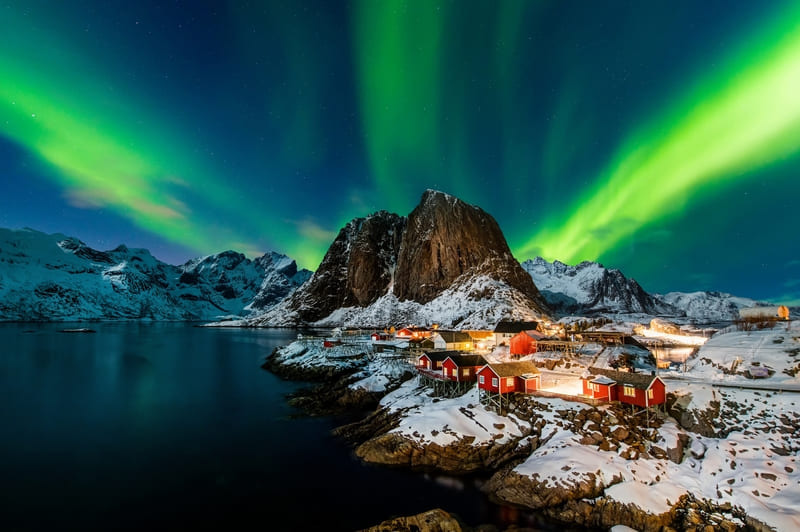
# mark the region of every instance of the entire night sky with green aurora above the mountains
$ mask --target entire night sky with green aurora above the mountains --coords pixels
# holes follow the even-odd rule
[[[0,226],[316,269],[427,188],[515,256],[800,304],[800,4],[0,2]]]

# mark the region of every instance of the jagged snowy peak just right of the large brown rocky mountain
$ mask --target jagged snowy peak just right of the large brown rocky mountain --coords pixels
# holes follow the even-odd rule
[[[676,309],[653,297],[616,269],[584,261],[576,266],[536,257],[522,263],[548,304],[562,314],[673,315]]]

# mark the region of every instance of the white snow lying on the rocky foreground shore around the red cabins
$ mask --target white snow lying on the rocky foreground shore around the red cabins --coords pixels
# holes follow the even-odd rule
[[[615,348],[619,349],[619,348]],[[543,370],[543,384],[552,391],[574,394],[578,391],[578,372],[589,363],[602,364],[600,357],[613,356],[613,349],[590,349],[579,354],[570,368]],[[548,354],[547,356],[551,356]],[[320,356],[307,352],[305,357]],[[727,374],[725,368],[740,358],[739,367],[754,362],[770,368],[765,379],[749,379],[744,374]],[[330,357],[328,357],[330,359]],[[487,355],[490,361],[505,361],[507,351],[498,349]],[[537,353],[527,359],[545,360]],[[309,358],[309,360],[311,360]],[[608,360],[608,358],[605,358]],[[578,361],[583,361],[579,363]],[[329,362],[330,363],[330,362]],[[582,436],[566,412],[591,408],[579,402],[537,398],[547,408],[536,412],[542,441],[538,449],[516,466],[514,471],[529,476],[545,486],[569,490],[587,479],[603,489],[605,497],[634,504],[643,510],[662,514],[686,493],[717,504],[730,503],[776,530],[800,530],[800,469],[797,464],[800,441],[800,394],[769,390],[747,390],[719,387],[720,383],[787,385],[800,383],[790,375],[800,363],[800,323],[759,331],[733,331],[718,335],[700,348],[688,364],[688,371],[674,372],[667,379],[668,391],[679,397],[686,410],[718,412],[711,416],[714,432],[719,437],[703,436],[678,426],[671,418],[653,429],[648,451],[678,448],[678,441],[688,441],[679,463],[667,458],[654,458],[649,452],[638,459],[638,444],[619,441],[616,450],[601,450],[581,442]],[[365,366],[359,372],[363,386],[380,389],[383,384],[380,362]],[[370,372],[375,372],[370,376]],[[387,377],[388,378],[388,377]],[[556,383],[556,380],[559,382]],[[545,384],[548,387],[548,384]],[[399,426],[394,432],[425,445],[453,444],[474,438],[474,444],[489,441],[505,442],[528,433],[531,420],[515,414],[501,416],[479,402],[472,389],[452,398],[433,398],[430,390],[421,387],[418,379],[406,381],[386,395],[381,404],[400,412]],[[603,411],[607,407],[600,407]],[[713,410],[717,408],[718,410]],[[589,422],[587,421],[587,424]],[[616,430],[616,426],[610,427]],[[643,454],[643,453],[642,453]],[[663,456],[663,454],[662,454]],[[738,522],[742,525],[743,523]]]

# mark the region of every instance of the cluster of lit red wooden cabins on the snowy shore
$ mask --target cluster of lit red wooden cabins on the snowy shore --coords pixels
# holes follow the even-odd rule
[[[632,364],[620,364],[626,347],[647,353],[625,332],[566,337],[543,322],[501,321],[493,331],[405,327],[375,332],[371,339],[378,351],[409,353],[436,395],[460,395],[477,385],[482,401],[498,408],[517,393],[590,404],[619,401],[642,409],[666,401],[666,386],[655,371],[636,373]]]

